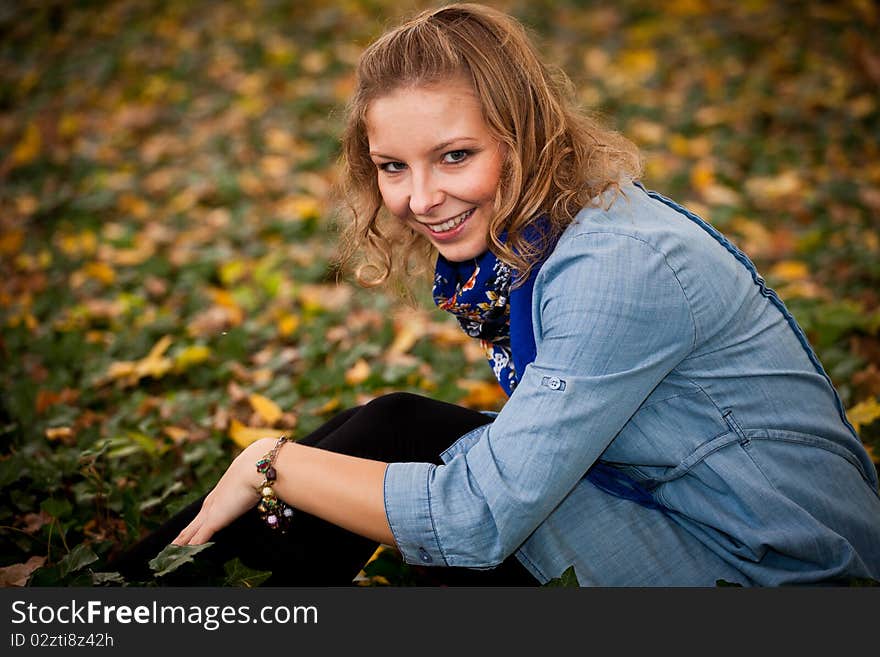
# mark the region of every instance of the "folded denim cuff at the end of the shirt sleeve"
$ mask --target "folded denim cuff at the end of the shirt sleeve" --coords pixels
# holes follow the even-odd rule
[[[385,515],[397,549],[409,564],[448,565],[434,531],[428,494],[436,467],[432,463],[389,463],[385,468]]]

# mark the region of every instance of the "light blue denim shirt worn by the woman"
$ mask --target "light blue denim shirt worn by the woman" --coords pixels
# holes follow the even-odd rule
[[[443,465],[388,465],[406,562],[515,553],[541,582],[574,566],[611,585],[880,578],[876,469],[802,330],[709,224],[641,186],[584,208],[532,323],[537,356],[493,422]],[[600,459],[661,510],[585,480]]]

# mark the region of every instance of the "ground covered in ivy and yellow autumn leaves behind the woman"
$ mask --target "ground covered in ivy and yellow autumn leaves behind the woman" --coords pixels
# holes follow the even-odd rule
[[[643,147],[647,187],[752,256],[876,458],[876,4],[492,4]],[[503,403],[448,318],[332,265],[353,65],[412,7],[0,8],[0,585],[121,583],[108,559],[257,436],[391,390]]]

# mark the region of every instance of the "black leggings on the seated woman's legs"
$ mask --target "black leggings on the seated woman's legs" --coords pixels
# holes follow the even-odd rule
[[[340,413],[298,442],[378,461],[440,464],[440,453],[459,436],[490,421],[488,416],[467,408],[419,395],[393,393]],[[204,497],[193,502],[142,539],[111,568],[129,580],[149,577],[148,561],[189,524],[203,500]],[[250,568],[272,571],[263,586],[350,586],[377,547],[375,541],[299,510],[295,511],[286,534],[266,527],[254,509],[211,540],[214,545],[196,557],[202,568],[201,577],[205,576],[206,565],[222,572],[224,563],[238,557]],[[413,566],[407,572],[415,584],[424,586],[538,584],[515,556],[490,570]],[[163,578],[163,583],[200,583],[200,575],[193,569],[188,571],[184,567],[172,575]]]

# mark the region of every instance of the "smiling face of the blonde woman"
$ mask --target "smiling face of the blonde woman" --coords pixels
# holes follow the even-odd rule
[[[482,254],[504,151],[470,84],[396,89],[370,103],[366,127],[388,211],[447,260]]]

